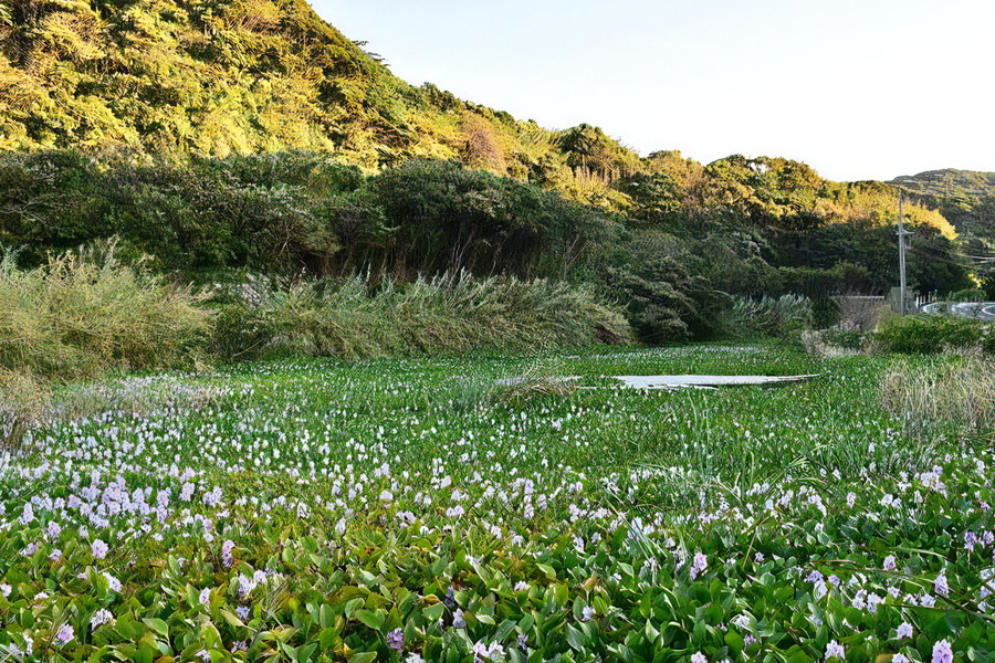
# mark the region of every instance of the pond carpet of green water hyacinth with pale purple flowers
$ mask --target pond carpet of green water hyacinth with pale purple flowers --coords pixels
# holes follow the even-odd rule
[[[991,440],[882,399],[961,360],[694,346],[65,388],[0,461],[0,661],[989,660]],[[819,377],[608,377],[660,373]]]

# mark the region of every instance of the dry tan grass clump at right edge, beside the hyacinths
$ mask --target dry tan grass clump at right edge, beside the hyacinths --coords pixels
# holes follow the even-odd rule
[[[881,383],[884,407],[907,432],[925,435],[954,425],[963,433],[995,431],[995,365],[980,352],[935,361],[903,360]]]

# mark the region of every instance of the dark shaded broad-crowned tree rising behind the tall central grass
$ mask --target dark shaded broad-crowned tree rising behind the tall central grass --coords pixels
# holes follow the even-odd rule
[[[566,277],[616,223],[537,187],[451,161],[408,161],[370,181],[396,227],[383,261],[396,273]]]

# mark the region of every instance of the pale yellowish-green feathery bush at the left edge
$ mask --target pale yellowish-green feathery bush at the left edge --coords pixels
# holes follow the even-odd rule
[[[199,297],[122,265],[67,253],[30,271],[0,261],[0,367],[81,378],[109,367],[188,365],[209,328]]]

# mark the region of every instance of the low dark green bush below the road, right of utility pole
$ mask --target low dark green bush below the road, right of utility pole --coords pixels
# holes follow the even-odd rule
[[[903,355],[932,355],[986,343],[985,325],[949,315],[910,315],[883,323],[874,336],[880,349]]]

